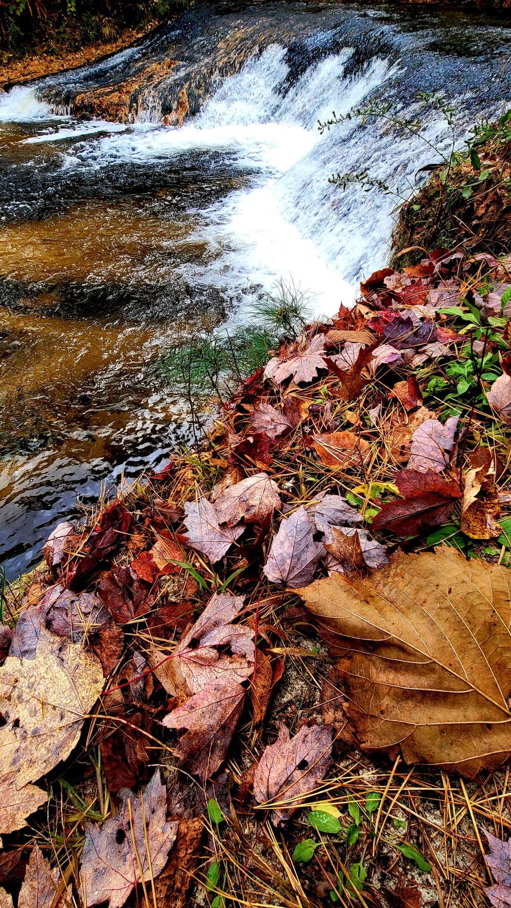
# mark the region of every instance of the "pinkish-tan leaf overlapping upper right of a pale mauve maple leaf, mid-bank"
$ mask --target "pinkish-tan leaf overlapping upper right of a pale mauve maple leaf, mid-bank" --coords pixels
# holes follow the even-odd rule
[[[242,518],[260,523],[280,508],[279,486],[267,473],[256,473],[226,489],[215,501],[219,523],[233,527]]]

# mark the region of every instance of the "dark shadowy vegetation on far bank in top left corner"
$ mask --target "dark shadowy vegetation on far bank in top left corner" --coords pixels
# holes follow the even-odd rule
[[[189,0],[0,0],[0,51],[63,53],[182,12]]]

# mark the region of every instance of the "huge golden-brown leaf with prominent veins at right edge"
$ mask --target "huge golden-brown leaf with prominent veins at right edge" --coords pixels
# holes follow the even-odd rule
[[[477,775],[511,755],[511,574],[454,548],[299,590],[364,750]]]

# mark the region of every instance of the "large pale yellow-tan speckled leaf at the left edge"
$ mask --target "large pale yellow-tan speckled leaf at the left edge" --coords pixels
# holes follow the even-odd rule
[[[18,791],[70,755],[102,689],[99,659],[45,627],[34,659],[7,656],[0,668],[0,772],[15,772]]]

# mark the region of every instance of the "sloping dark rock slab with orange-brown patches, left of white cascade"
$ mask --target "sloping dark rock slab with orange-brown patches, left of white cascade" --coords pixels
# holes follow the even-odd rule
[[[275,41],[296,40],[296,12],[280,25],[275,15],[258,8],[247,22],[241,12],[248,5],[237,4],[235,12],[226,13],[226,4],[202,3],[120,54],[48,77],[39,83],[38,94],[55,114],[181,125],[211,97],[219,80],[238,73],[252,54]]]

